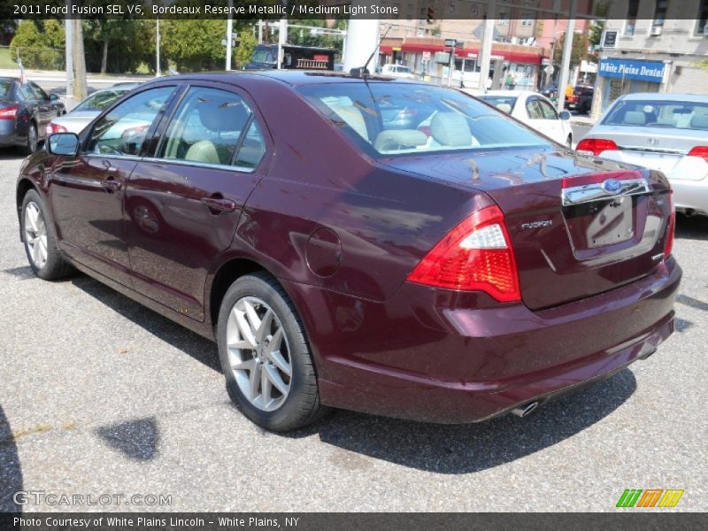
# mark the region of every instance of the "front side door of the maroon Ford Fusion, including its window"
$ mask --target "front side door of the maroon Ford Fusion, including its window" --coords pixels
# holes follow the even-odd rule
[[[174,85],[143,90],[104,113],[81,135],[79,154],[58,158],[50,177],[61,249],[126,286],[125,183],[174,92]]]

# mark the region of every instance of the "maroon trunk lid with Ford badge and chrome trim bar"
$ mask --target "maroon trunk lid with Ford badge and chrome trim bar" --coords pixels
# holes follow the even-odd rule
[[[391,158],[386,164],[491,196],[504,212],[521,296],[531,309],[617,288],[663,258],[670,205],[659,173],[554,150]]]

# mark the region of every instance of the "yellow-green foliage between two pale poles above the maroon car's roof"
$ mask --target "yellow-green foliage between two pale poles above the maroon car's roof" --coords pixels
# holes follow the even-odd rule
[[[161,50],[172,59],[180,72],[222,69],[226,48],[226,19],[162,20]]]

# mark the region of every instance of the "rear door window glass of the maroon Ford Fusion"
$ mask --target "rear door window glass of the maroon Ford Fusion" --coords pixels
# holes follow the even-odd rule
[[[243,148],[250,153],[245,165],[255,167],[263,156],[263,136],[258,126],[249,129],[252,120],[253,112],[241,96],[192,87],[174,112],[157,157],[231,165]]]

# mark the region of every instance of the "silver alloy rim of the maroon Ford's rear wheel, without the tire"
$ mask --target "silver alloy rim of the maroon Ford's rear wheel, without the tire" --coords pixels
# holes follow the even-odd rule
[[[265,301],[244,296],[227,320],[227,356],[242,395],[264,412],[288,398],[292,359],[281,319]]]

